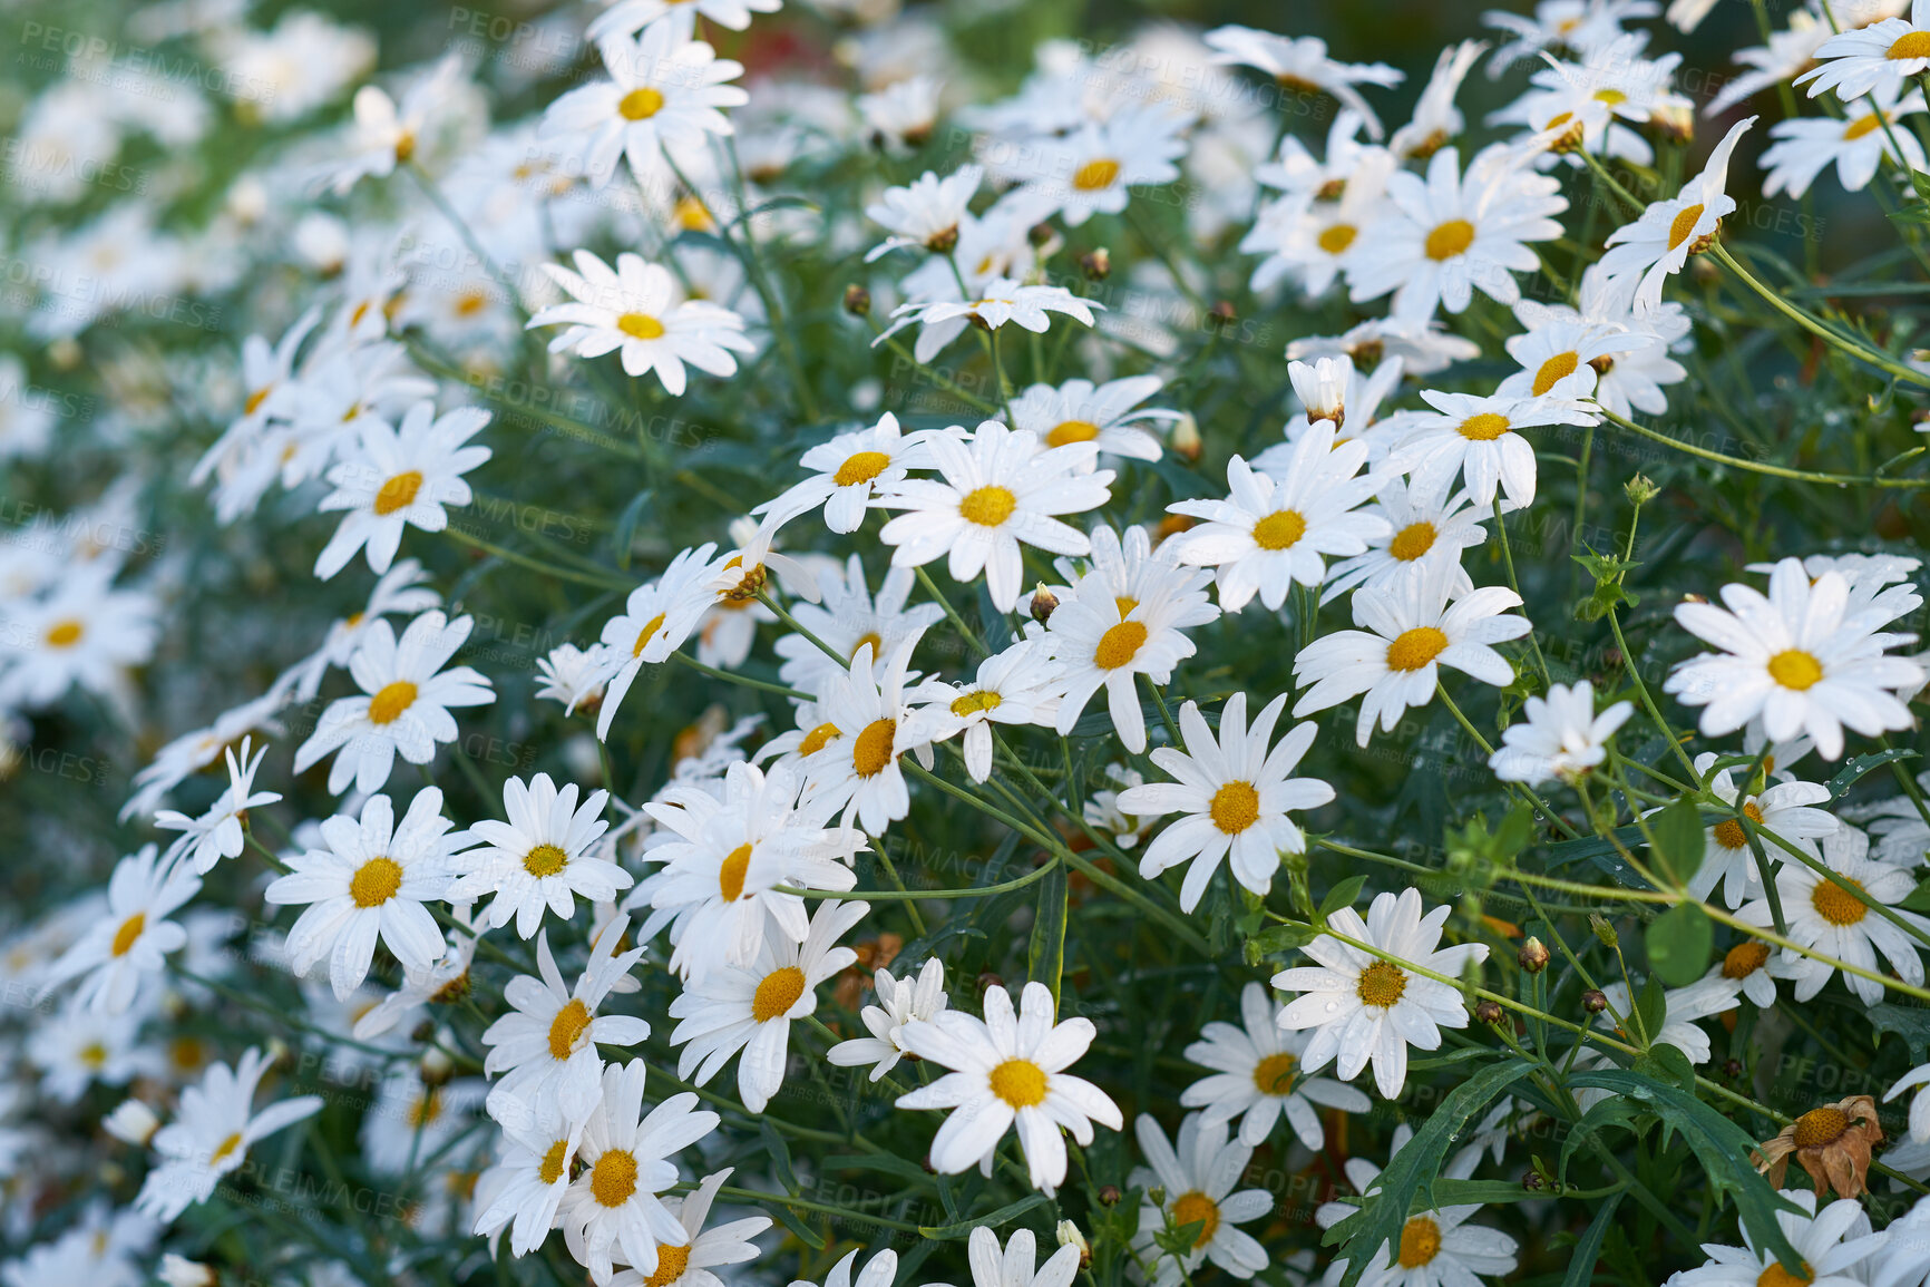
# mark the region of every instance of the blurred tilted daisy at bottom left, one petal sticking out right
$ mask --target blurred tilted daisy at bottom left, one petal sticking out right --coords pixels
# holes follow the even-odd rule
[[[322,1109],[320,1096],[301,1094],[253,1111],[266,1071],[268,1055],[249,1048],[234,1069],[214,1063],[199,1086],[181,1092],[179,1115],[154,1133],[158,1165],[147,1173],[135,1210],[174,1223],[189,1206],[207,1202],[249,1148]]]

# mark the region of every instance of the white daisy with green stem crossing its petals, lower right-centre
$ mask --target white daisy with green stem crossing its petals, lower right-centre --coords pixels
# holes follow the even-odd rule
[[[1420,891],[1378,893],[1366,920],[1351,907],[1328,917],[1328,926],[1386,953],[1388,959],[1322,934],[1305,951],[1318,965],[1274,974],[1282,992],[1299,992],[1280,1013],[1287,1030],[1312,1028],[1303,1067],[1309,1073],[1334,1063],[1353,1079],[1368,1063],[1382,1098],[1401,1098],[1407,1084],[1407,1048],[1440,1050],[1440,1028],[1465,1028],[1467,1005],[1449,984],[1417,974],[1419,967],[1446,978],[1488,959],[1486,944],[1438,947],[1448,907],[1420,913]]]

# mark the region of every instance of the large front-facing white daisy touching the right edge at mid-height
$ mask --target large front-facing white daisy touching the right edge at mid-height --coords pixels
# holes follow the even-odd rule
[[[1888,656],[1913,635],[1886,635],[1849,617],[1849,581],[1828,571],[1812,583],[1801,560],[1770,573],[1770,592],[1725,585],[1722,602],[1677,604],[1675,621],[1722,652],[1683,662],[1662,685],[1687,706],[1702,706],[1702,731],[1733,733],[1754,718],[1772,741],[1801,733],[1826,760],[1843,754],[1843,729],[1878,737],[1911,727],[1891,689],[1924,681],[1922,666]]]

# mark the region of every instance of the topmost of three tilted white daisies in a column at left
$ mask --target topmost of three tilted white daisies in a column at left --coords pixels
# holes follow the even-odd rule
[[[318,509],[347,509],[336,534],[315,556],[315,575],[322,581],[342,571],[355,552],[369,548],[369,567],[388,571],[401,546],[401,529],[440,533],[450,525],[444,506],[467,506],[475,492],[463,475],[490,457],[482,446],[465,446],[488,424],[481,407],[457,407],[436,415],[436,405],[419,401],[401,417],[400,428],[369,419],[361,428],[361,450],[328,471],[334,488]]]

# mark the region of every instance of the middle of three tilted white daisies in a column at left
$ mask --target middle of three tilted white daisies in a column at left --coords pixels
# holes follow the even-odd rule
[[[486,675],[469,666],[442,670],[473,627],[473,617],[450,621],[440,612],[425,612],[398,641],[388,621],[371,625],[349,658],[349,675],[363,697],[328,704],[315,733],[295,751],[295,774],[340,751],[328,770],[328,791],[342,795],[349,783],[357,791],[380,791],[396,754],[409,764],[434,760],[436,743],[455,741],[450,706],[496,700]]]

